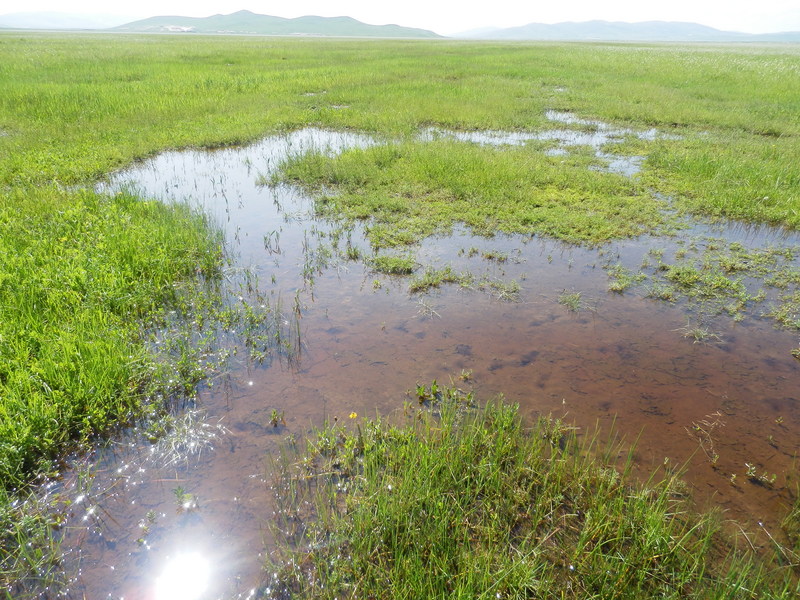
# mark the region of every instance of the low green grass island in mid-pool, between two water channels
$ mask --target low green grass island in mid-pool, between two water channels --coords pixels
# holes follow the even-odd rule
[[[659,203],[636,182],[587,166],[538,148],[439,140],[308,153],[289,159],[280,180],[325,190],[316,194],[318,212],[364,221],[375,248],[418,243],[456,223],[479,235],[599,244],[663,221]]]

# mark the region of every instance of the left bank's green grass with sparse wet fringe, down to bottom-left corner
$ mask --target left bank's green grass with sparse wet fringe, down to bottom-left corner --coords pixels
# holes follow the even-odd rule
[[[173,403],[211,368],[193,319],[216,303],[221,240],[184,205],[55,187],[3,199],[0,590],[55,596],[68,501],[30,484],[101,434],[172,428]]]

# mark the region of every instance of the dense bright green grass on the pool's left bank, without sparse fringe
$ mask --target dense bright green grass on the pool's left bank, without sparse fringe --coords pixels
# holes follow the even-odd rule
[[[213,277],[221,257],[204,218],[184,206],[54,188],[5,200],[0,481],[8,489],[142,411],[158,368],[144,328],[178,305],[176,282]]]

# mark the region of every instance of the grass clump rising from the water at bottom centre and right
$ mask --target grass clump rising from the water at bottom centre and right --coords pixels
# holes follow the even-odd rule
[[[327,426],[284,455],[266,597],[797,594],[791,549],[756,553],[693,512],[676,475],[631,483],[620,446],[558,419],[526,429],[514,406],[473,410],[447,388],[430,402],[401,425]]]

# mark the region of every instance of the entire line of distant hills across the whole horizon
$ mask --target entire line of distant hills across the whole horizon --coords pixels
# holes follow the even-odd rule
[[[285,19],[240,10],[210,17],[151,17],[125,22],[112,15],[68,13],[16,13],[0,15],[0,28],[98,29],[152,33],[230,33],[255,35],[309,35],[383,38],[441,38],[427,29],[399,25],[368,25],[351,17],[299,17]],[[747,34],[721,31],[697,23],[646,21],[624,23],[529,23],[506,29],[486,27],[452,37],[478,40],[558,40],[614,42],[800,42],[800,32]]]

